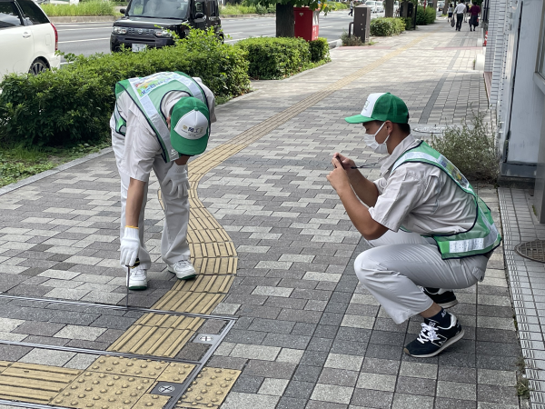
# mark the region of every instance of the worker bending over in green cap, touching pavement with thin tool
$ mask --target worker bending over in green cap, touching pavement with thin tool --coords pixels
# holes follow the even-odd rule
[[[164,204],[161,255],[181,280],[195,277],[187,243],[187,161],[206,149],[215,122],[214,95],[200,78],[164,72],[115,85],[110,120],[115,162],[121,177],[121,257],[128,287],[147,288],[152,260],[144,244],[144,210],[152,169]],[[140,264],[136,262],[139,260]]]

